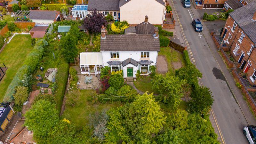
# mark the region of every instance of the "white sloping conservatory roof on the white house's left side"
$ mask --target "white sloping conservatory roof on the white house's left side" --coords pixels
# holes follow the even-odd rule
[[[101,52],[81,52],[80,65],[103,65]]]

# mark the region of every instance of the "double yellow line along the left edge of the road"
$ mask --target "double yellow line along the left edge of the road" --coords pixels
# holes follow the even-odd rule
[[[188,44],[187,38],[186,38],[185,33],[184,33],[184,31],[183,31],[182,25],[181,25],[181,23],[180,23],[179,16],[178,16],[178,14],[177,14],[177,12],[176,12],[176,8],[175,8],[175,6],[174,6],[174,4],[173,4],[173,1],[172,1],[172,0],[170,0],[170,1],[172,2],[172,5],[173,5],[172,9],[174,10],[174,12],[175,12],[175,14],[176,14],[176,16],[177,16],[177,19],[178,19],[178,22],[179,22],[179,25],[180,25],[180,29],[181,29],[181,34],[182,34],[182,36],[183,36],[183,38],[184,38],[185,44],[187,45],[188,53],[190,54],[190,57],[189,57],[189,58],[190,58],[190,60],[192,61],[192,63],[196,66],[196,61],[195,61],[195,59],[194,59],[193,53],[191,52],[191,49],[190,49],[190,46],[189,46],[189,44]],[[197,66],[196,66],[196,68],[197,68]],[[199,79],[199,85],[200,85],[200,86],[203,86],[202,78],[199,77],[198,79]],[[223,138],[222,132],[221,132],[221,130],[220,130],[220,127],[219,127],[219,124],[218,124],[218,121],[217,121],[217,119],[216,119],[216,116],[215,116],[215,114],[214,114],[213,109],[210,110],[210,115],[212,116],[213,123],[214,123],[215,127],[217,128],[217,132],[218,132],[217,134],[218,134],[219,137],[220,137],[221,143],[222,143],[222,144],[225,144],[225,140],[224,140],[224,138]]]

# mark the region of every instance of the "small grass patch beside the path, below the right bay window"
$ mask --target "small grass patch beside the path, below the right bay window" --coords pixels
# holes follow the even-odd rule
[[[140,90],[141,92],[154,93],[159,94],[156,89],[152,89],[152,84],[150,83],[151,78],[149,76],[140,76],[139,79],[133,82],[135,87]]]

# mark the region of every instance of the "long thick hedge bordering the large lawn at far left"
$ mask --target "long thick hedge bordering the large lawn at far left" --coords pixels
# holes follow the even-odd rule
[[[5,102],[11,102],[13,100],[15,88],[17,86],[20,86],[22,79],[25,76],[28,76],[35,71],[38,62],[41,60],[44,54],[44,47],[46,45],[48,45],[48,42],[44,39],[37,41],[36,45],[26,58],[24,65],[19,68],[16,75],[13,77],[11,84],[8,86],[7,91],[4,95]]]

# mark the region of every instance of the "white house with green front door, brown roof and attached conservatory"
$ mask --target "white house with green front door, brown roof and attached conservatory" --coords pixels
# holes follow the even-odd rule
[[[80,53],[82,74],[97,74],[100,69],[109,66],[111,71],[123,70],[124,78],[149,75],[149,67],[156,66],[160,51],[158,28],[145,21],[133,28],[135,34],[108,35],[101,28],[100,51]]]

